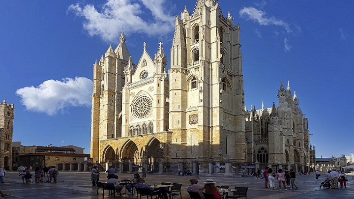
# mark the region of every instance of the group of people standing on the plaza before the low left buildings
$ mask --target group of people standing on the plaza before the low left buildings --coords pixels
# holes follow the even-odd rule
[[[17,169],[17,171],[19,171],[19,175],[21,176],[23,183],[25,183],[25,182],[32,183],[33,182],[33,180],[32,180],[33,173],[31,170],[32,170],[31,166],[29,166],[29,167],[21,166]],[[48,177],[47,183],[51,183],[52,179],[56,183],[58,173],[59,172],[55,166],[51,166],[49,168],[47,166],[45,166],[44,168],[36,167],[34,169],[34,182],[36,184],[42,183],[43,177],[47,176]]]

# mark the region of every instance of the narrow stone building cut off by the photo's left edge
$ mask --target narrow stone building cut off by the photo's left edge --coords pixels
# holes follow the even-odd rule
[[[0,103],[0,166],[12,167],[12,135],[14,120],[14,105]]]

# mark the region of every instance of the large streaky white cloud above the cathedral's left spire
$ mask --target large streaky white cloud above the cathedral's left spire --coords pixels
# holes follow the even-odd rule
[[[85,18],[84,28],[90,36],[96,35],[109,42],[117,42],[120,32],[159,37],[170,33],[175,28],[175,17],[166,10],[169,10],[166,0],[107,0],[100,9],[79,3],[68,8]]]

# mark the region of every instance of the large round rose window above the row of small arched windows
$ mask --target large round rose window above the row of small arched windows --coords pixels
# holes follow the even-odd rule
[[[145,118],[151,112],[152,103],[148,96],[141,96],[133,103],[132,114],[136,118]]]

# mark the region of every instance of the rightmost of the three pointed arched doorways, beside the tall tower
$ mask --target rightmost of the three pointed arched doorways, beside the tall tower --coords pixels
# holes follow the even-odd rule
[[[146,147],[146,157],[148,159],[148,171],[159,171],[158,163],[164,157],[164,146],[156,138],[152,138]]]

